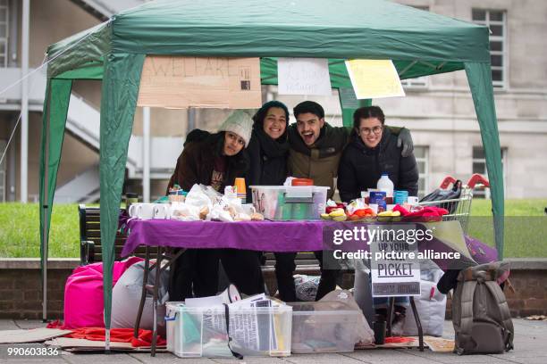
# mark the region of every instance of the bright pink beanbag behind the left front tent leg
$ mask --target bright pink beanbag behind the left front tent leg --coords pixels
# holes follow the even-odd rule
[[[114,261],[113,287],[123,272],[139,261],[139,257]],[[74,269],[64,285],[63,328],[105,327],[103,310],[103,263]]]

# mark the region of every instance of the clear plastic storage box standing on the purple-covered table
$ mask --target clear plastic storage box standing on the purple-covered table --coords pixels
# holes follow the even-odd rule
[[[265,219],[321,219],[329,187],[250,186],[253,204]]]

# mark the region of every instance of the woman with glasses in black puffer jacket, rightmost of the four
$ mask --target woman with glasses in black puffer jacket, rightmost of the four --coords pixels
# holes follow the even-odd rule
[[[376,188],[382,173],[388,173],[395,190],[417,195],[418,169],[414,153],[401,155],[397,136],[384,122],[383,111],[378,106],[362,107],[353,114],[351,142],[342,153],[338,169],[338,190],[345,203],[361,197],[361,191]],[[395,298],[393,335],[402,335],[408,304],[408,297]],[[374,298],[374,310],[379,320],[385,320],[387,298]]]

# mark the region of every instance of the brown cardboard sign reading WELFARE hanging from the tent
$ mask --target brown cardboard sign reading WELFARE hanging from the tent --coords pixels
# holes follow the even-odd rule
[[[256,109],[262,105],[258,58],[147,55],[139,106]]]

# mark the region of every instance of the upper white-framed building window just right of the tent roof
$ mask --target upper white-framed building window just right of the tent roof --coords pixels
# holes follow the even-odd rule
[[[506,87],[507,57],[507,13],[503,10],[472,10],[473,22],[490,29],[490,60],[492,62],[493,87]]]

